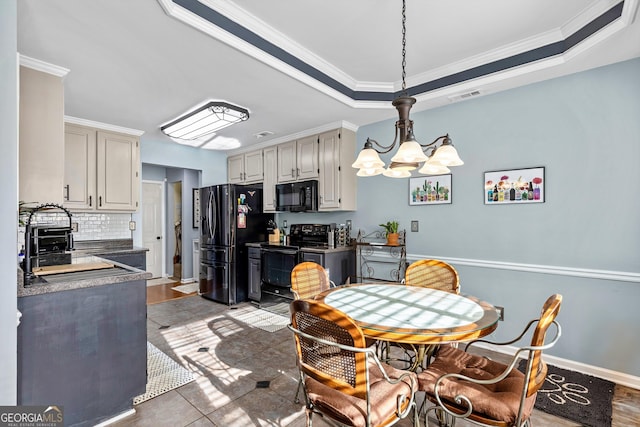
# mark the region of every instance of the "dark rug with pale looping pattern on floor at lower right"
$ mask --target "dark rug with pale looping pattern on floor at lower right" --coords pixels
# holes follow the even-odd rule
[[[524,372],[522,360],[518,369]],[[547,378],[535,408],[588,427],[611,427],[615,383],[580,372],[547,365]]]

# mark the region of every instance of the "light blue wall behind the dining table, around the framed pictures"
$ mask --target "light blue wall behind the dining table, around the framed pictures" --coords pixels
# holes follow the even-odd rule
[[[409,258],[453,259],[463,292],[505,307],[497,339],[516,336],[558,292],[564,334],[549,353],[640,376],[638,76],[635,59],[413,113],[419,141],[448,132],[465,161],[452,168],[451,205],[409,206],[407,179],[377,176],[359,178],[357,212],[278,220],[351,218],[366,230],[419,220]],[[390,143],[394,121],[361,127],[358,145]],[[485,171],[537,166],[546,168],[544,204],[484,205]],[[579,277],[581,269],[602,278]]]

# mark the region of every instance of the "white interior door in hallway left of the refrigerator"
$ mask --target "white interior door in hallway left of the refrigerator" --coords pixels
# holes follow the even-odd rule
[[[147,271],[162,277],[164,265],[164,183],[142,183],[142,242],[147,252]]]

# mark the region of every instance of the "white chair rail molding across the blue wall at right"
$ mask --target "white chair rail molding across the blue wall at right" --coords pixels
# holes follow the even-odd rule
[[[588,279],[613,280],[618,282],[640,283],[640,273],[629,271],[596,270],[589,268],[565,267],[557,265],[524,264],[517,262],[489,261],[483,259],[449,258],[438,255],[408,254],[407,261],[419,259],[439,259],[454,265],[492,268],[496,270],[523,271],[528,273],[551,274],[556,276],[584,277]]]

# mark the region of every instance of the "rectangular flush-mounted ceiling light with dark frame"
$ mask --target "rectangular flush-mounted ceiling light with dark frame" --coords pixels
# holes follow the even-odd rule
[[[216,132],[249,119],[249,111],[224,101],[208,101],[160,127],[174,141],[207,148]]]

